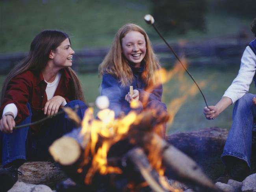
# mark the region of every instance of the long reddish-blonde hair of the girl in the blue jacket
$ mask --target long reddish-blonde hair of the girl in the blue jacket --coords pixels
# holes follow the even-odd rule
[[[158,77],[155,72],[160,68],[160,64],[156,55],[154,54],[147,33],[140,26],[135,24],[126,24],[119,29],[115,35],[108,54],[98,68],[99,74],[113,75],[115,78],[119,79],[122,86],[127,86],[132,83],[132,69],[122,54],[122,38],[124,38],[124,36],[130,31],[138,31],[145,38],[147,51],[144,57],[145,70],[142,74],[142,79],[147,86],[152,85],[157,81]]]

